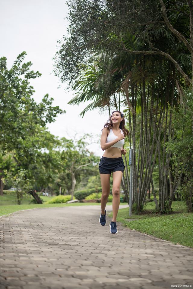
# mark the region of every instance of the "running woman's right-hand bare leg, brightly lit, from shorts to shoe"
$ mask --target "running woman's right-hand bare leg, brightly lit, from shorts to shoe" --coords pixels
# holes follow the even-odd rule
[[[116,222],[117,213],[120,204],[120,186],[122,180],[122,171],[114,171],[112,173],[112,221]]]

